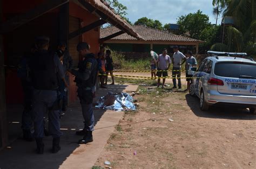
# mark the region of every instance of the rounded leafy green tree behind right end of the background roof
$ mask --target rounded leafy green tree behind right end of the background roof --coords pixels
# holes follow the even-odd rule
[[[199,39],[201,32],[211,25],[209,17],[200,10],[179,17],[177,24],[179,24],[178,34],[194,39]]]

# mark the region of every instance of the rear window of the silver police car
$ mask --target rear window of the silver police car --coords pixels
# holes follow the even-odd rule
[[[215,65],[214,74],[228,78],[256,78],[256,65],[244,62],[219,62]]]

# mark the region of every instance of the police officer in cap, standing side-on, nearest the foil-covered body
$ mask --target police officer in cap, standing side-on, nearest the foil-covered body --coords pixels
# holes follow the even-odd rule
[[[92,131],[94,130],[94,116],[92,111],[93,90],[96,85],[98,62],[95,55],[90,52],[90,45],[81,42],[77,45],[77,51],[84,57],[83,61],[79,62],[78,71],[71,70],[71,74],[76,76],[75,82],[78,86],[78,97],[82,105],[84,117],[84,129],[76,132],[77,135],[83,135],[83,139],[78,141],[78,144],[86,144],[93,141]]]

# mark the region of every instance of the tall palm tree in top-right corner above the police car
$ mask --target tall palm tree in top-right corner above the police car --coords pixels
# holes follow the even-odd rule
[[[235,24],[225,27],[223,46],[228,47],[227,52],[246,52],[256,56],[256,1],[226,0],[225,4],[223,17],[233,17]]]

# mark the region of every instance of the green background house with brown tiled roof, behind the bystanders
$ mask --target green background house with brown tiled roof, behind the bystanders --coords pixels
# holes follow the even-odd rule
[[[114,51],[134,54],[138,56],[139,53],[149,53],[152,49],[157,53],[161,53],[163,48],[167,48],[169,53],[172,53],[172,47],[178,45],[181,52],[191,50],[198,53],[198,46],[203,41],[178,36],[176,34],[153,29],[144,25],[134,25],[133,29],[143,37],[144,40],[138,40],[129,34],[119,30],[117,27],[105,27],[100,31],[100,38],[103,43]],[[111,39],[104,39],[110,34],[117,33],[118,36]]]

